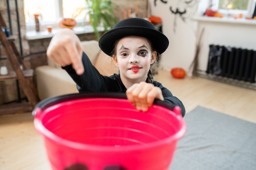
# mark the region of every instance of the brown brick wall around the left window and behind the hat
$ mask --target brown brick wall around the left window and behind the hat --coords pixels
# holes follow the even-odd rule
[[[24,56],[23,61],[27,68],[35,69],[38,66],[47,64],[47,56],[46,50],[47,46],[51,38],[38,39],[38,40],[29,40],[25,39],[26,35],[26,26],[25,26],[25,18],[23,11],[23,0],[17,0],[17,5],[15,0],[9,0],[9,13],[11,16],[11,28],[12,34],[17,38],[16,39],[16,47],[19,52],[22,51],[22,56]],[[128,11],[128,6],[131,6],[132,11],[135,11],[135,3],[138,6],[138,17],[145,18],[147,17],[147,0],[113,0],[118,5],[118,8],[115,11],[119,20],[124,18],[124,9]],[[16,9],[17,7],[17,9]],[[18,11],[18,16],[16,11]],[[7,10],[7,1],[0,0],[0,12],[2,17],[4,18],[5,23],[8,28],[10,28],[9,20],[8,20],[8,10]],[[127,14],[128,16],[128,14]],[[18,27],[18,19],[20,25]],[[18,29],[20,28],[20,29]],[[19,40],[19,31],[20,30],[20,40]],[[80,34],[78,35],[81,41],[84,40],[94,40],[94,33],[89,34]],[[20,49],[20,42],[22,43],[22,49]],[[6,60],[7,55],[5,50],[0,45],[0,64],[7,66],[8,70],[13,70],[9,61]],[[33,77],[33,81],[36,80],[36,75]],[[16,80],[6,80],[0,81],[0,104],[13,102],[18,100],[18,90],[17,90],[17,82]],[[36,84],[36,83],[35,83]],[[25,99],[25,95],[22,89],[20,90],[20,98]]]

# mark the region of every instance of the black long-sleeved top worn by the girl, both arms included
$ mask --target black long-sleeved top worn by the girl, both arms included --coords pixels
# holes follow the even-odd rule
[[[83,75],[77,75],[71,65],[63,67],[67,73],[76,82],[79,93],[86,92],[117,92],[125,93],[126,87],[121,81],[120,74],[114,74],[111,76],[103,76],[99,71],[92,65],[88,56],[83,53],[82,62],[84,66]],[[172,106],[180,106],[182,110],[182,116],[185,115],[185,108],[182,102],[169,91],[167,88],[162,86],[161,83],[154,81],[154,86],[159,87],[162,90],[164,102]]]

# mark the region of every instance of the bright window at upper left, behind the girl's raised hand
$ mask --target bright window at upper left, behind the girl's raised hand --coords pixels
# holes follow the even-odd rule
[[[34,14],[39,14],[41,25],[57,24],[61,17],[82,21],[86,17],[85,0],[24,0],[27,26],[35,24]]]

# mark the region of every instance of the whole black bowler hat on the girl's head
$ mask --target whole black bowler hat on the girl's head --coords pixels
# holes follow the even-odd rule
[[[116,40],[131,35],[148,38],[160,54],[164,53],[169,45],[168,38],[156,30],[151,22],[141,18],[127,18],[119,21],[112,30],[101,36],[99,47],[104,53],[111,55]]]

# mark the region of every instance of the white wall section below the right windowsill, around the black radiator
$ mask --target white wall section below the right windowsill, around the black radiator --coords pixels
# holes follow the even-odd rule
[[[198,29],[204,28],[198,69],[206,71],[209,44],[256,50],[255,24],[235,22],[199,21]]]

